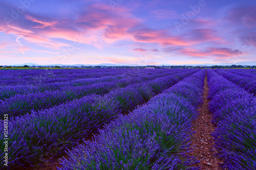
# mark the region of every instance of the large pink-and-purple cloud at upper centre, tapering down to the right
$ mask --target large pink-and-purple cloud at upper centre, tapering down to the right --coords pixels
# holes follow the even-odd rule
[[[110,6],[92,5],[74,22],[88,32],[102,31],[106,43],[132,39],[134,42],[158,43],[163,46],[188,45],[181,37],[170,36],[166,30],[152,30],[145,26],[145,29],[137,29],[141,26],[141,20],[134,18],[125,9],[118,9],[121,13],[112,11]]]

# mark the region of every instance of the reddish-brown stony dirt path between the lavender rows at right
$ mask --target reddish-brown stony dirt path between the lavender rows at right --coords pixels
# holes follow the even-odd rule
[[[195,166],[201,166],[204,170],[219,170],[222,169],[219,164],[223,162],[214,156],[217,151],[213,148],[214,139],[211,136],[211,133],[214,132],[215,127],[214,124],[211,123],[212,116],[208,110],[208,91],[209,88],[206,74],[204,79],[204,92],[202,95],[203,104],[198,109],[198,112],[200,113],[198,118],[192,123],[192,129],[196,131],[196,133],[193,134],[191,146],[195,145],[195,147],[193,147],[194,151],[189,154],[190,156],[198,157],[197,160],[200,160],[200,163]]]

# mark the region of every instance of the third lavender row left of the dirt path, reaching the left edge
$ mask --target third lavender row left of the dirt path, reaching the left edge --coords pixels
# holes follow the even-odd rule
[[[182,70],[182,71],[189,71]],[[72,86],[68,85],[60,87],[57,90],[46,90],[44,92],[31,92],[25,94],[15,94],[9,99],[0,100],[0,114],[1,119],[4,114],[9,116],[18,116],[25,113],[31,113],[40,109],[51,108],[74,99],[79,99],[82,96],[95,94],[106,94],[113,89],[125,87],[130,84],[139,83],[148,80],[154,80],[168,75],[177,74],[180,70],[173,70],[171,72],[164,72],[149,76],[139,75],[123,79],[102,79],[102,82],[92,81],[89,85]],[[62,83],[63,84],[63,83]]]

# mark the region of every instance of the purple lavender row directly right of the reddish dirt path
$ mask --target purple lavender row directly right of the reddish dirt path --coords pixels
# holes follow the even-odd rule
[[[217,71],[219,72],[219,71]],[[217,124],[213,136],[227,169],[256,169],[256,98],[208,70],[209,109]]]

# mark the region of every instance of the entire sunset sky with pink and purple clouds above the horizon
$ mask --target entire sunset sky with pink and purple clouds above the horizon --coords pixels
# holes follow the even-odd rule
[[[256,61],[256,1],[0,1],[0,65]]]

